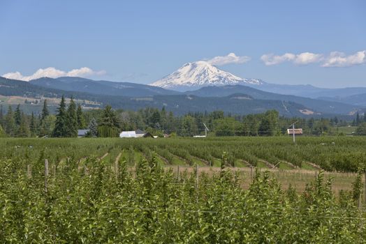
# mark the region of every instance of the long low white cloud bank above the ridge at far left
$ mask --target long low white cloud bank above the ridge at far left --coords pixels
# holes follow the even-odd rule
[[[33,75],[24,76],[20,72],[14,72],[14,73],[6,73],[2,75],[3,77],[6,77],[8,79],[20,79],[24,80],[26,82],[29,82],[31,79],[38,79],[41,77],[50,77],[50,78],[57,78],[62,76],[72,76],[72,77],[88,77],[91,75],[104,75],[105,71],[94,71],[91,68],[83,67],[79,69],[73,69],[68,72],[63,70],[57,70],[56,68],[49,67],[49,68],[40,68],[34,73]]]

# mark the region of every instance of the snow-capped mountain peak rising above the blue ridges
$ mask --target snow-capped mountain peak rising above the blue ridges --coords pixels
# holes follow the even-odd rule
[[[261,79],[243,79],[212,66],[205,61],[186,63],[174,73],[152,83],[152,86],[159,86],[164,89],[178,91],[189,91],[203,86],[225,86],[225,85],[260,85],[264,84]]]

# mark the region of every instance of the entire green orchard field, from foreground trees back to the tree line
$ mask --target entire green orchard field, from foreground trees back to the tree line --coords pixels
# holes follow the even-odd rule
[[[0,242],[363,243],[365,143],[1,139]]]

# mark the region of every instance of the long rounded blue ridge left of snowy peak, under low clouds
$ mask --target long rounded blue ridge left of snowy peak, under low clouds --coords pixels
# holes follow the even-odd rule
[[[52,79],[43,77],[30,81],[31,84],[64,91],[78,91],[108,96],[155,96],[174,95],[177,91],[169,91],[156,86],[129,82],[94,81],[80,77],[59,77]]]

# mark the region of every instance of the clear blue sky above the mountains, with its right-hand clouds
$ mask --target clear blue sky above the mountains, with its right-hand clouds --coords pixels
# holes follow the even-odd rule
[[[221,56],[240,77],[366,86],[365,13],[366,1],[3,0],[0,75],[149,84]]]

